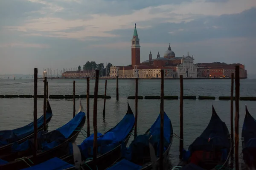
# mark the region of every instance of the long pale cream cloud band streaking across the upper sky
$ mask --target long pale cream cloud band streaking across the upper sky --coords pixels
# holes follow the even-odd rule
[[[40,0],[30,1],[35,3],[44,2]],[[106,3],[106,1],[102,0],[96,1],[97,3],[102,4],[102,6]],[[96,5],[96,1],[93,1],[94,5]],[[118,37],[116,34],[109,34],[109,31],[125,28],[131,29],[136,22],[142,22],[141,25],[138,24],[138,28],[150,28],[151,22],[154,22],[155,24],[186,23],[195,20],[198,18],[198,15],[220,16],[221,14],[236,14],[249,9],[252,6],[256,6],[254,0],[245,1],[243,6],[240,5],[239,0],[229,0],[226,3],[212,3],[205,0],[194,0],[192,2],[185,1],[180,4],[168,4],[155,7],[150,6],[139,10],[133,10],[131,14],[115,16],[104,13],[90,14],[86,19],[76,20],[66,20],[61,17],[53,17],[50,15],[38,19],[26,20],[26,23],[21,26],[6,26],[6,28],[16,31],[32,32],[32,35],[37,34],[38,32],[44,32],[44,36],[67,37],[81,40],[86,39],[86,37]],[[111,3],[113,8],[118,8],[119,1],[111,1]],[[60,8],[53,6],[52,3],[44,2],[43,4],[48,5],[53,11]],[[75,4],[78,6],[80,5],[79,3]],[[90,5],[92,4],[89,3],[89,6]],[[232,8],[229,8],[230,6],[232,6]],[[64,10],[65,8],[63,8],[63,11]],[[154,10],[157,10],[158,12],[152,13]],[[80,31],[64,32],[64,30],[71,30],[77,27],[84,27],[84,29]]]

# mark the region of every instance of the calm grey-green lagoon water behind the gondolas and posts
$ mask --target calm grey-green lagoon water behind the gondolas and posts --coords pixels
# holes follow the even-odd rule
[[[0,94],[33,94],[33,79],[0,79]],[[39,80],[40,81],[40,80]],[[30,82],[16,85],[4,85],[19,82]],[[48,80],[49,95],[73,94],[73,80],[59,79]],[[93,94],[95,80],[90,80],[90,94]],[[184,148],[199,136],[207,126],[211,117],[212,104],[220,118],[226,122],[230,129],[230,101],[219,101],[218,96],[230,96],[230,79],[184,79],[184,96],[215,96],[216,100],[184,100],[183,123],[184,123]],[[240,96],[256,96],[256,79],[240,80]],[[105,80],[99,80],[99,93],[104,94]],[[178,79],[166,79],[164,83],[165,95],[180,96],[180,82]],[[38,94],[44,94],[44,83],[38,82]],[[76,94],[86,94],[86,80],[76,80]],[[160,96],[160,79],[140,79],[139,96],[158,95]],[[108,80],[107,95],[111,99],[106,101],[106,115],[103,119],[103,101],[98,100],[98,132],[104,133],[115,126],[127,111],[127,101],[135,113],[135,100],[128,100],[127,96],[135,95],[135,80],[119,80],[119,101],[116,101],[116,80]],[[49,130],[54,130],[73,117],[73,100],[49,99],[53,115],[49,123]],[[241,127],[244,119],[245,105],[250,113],[256,117],[256,102],[240,101],[240,138]],[[86,99],[82,99],[84,109],[86,109]],[[164,110],[172,120],[174,133],[179,136],[179,100],[165,100]],[[76,110],[79,109],[79,99],[76,100]],[[160,111],[160,100],[142,99],[138,101],[138,134],[145,133],[157,118]],[[234,107],[235,111],[235,107]],[[33,99],[0,99],[0,130],[11,130],[26,125],[33,120]],[[90,99],[90,133],[93,133],[93,99]],[[38,99],[38,116],[43,114],[43,99]],[[84,125],[87,129],[87,124]],[[81,143],[84,136],[79,134],[77,142]],[[131,140],[133,136],[131,136]],[[179,140],[174,138],[170,150],[170,164],[176,165],[179,161]],[[241,152],[241,142],[239,151]],[[242,155],[240,162],[243,163]]]

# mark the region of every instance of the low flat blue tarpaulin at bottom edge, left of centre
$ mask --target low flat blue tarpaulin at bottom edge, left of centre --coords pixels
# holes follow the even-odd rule
[[[41,164],[37,164],[35,166],[28,167],[22,170],[63,170],[70,167],[74,166],[55,157]]]

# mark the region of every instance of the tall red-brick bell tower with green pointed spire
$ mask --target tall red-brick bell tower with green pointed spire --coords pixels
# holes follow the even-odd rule
[[[136,24],[131,39],[131,65],[140,65],[140,38],[138,37]]]

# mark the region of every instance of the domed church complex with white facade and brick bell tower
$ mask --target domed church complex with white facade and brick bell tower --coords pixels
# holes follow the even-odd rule
[[[169,78],[178,78],[183,75],[184,78],[196,78],[197,66],[194,65],[194,56],[189,55],[176,57],[169,44],[168,49],[160,57],[159,51],[157,58],[152,59],[151,51],[148,60],[140,62],[140,38],[137,33],[136,24],[134,34],[131,39],[131,66],[111,66],[110,77],[123,78],[158,78],[161,77],[160,70],[164,70],[164,76]]]

